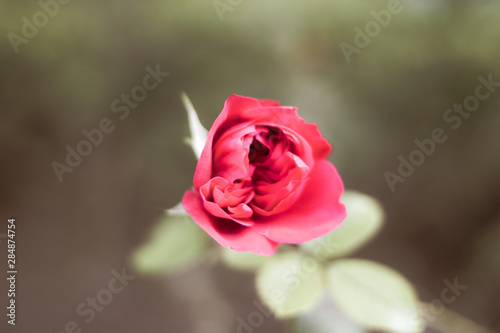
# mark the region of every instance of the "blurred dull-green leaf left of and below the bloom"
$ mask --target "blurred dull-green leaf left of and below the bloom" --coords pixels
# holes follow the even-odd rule
[[[205,232],[178,206],[176,209],[158,221],[149,240],[132,254],[137,272],[173,273],[194,264],[205,252],[209,240]]]

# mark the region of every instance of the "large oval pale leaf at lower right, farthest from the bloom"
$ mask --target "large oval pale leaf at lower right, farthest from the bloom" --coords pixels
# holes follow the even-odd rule
[[[395,333],[420,333],[417,294],[393,269],[361,259],[341,259],[327,270],[334,301],[366,328]]]

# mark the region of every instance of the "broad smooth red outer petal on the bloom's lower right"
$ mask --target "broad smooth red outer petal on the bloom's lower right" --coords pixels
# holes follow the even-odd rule
[[[252,229],[279,243],[299,244],[325,235],[346,217],[339,199],[344,185],[328,161],[316,161],[300,204],[287,211],[255,221]]]

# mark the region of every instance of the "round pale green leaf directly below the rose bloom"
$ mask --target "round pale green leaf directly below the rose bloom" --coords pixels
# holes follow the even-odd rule
[[[275,254],[257,272],[257,293],[278,318],[290,318],[310,309],[323,289],[321,268],[297,252]]]

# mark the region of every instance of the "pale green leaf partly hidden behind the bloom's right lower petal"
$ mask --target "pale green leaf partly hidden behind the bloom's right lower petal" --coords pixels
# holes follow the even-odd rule
[[[327,235],[300,245],[318,260],[342,257],[357,251],[382,227],[384,212],[374,198],[346,191],[341,202],[347,209],[347,217],[342,224]]]

